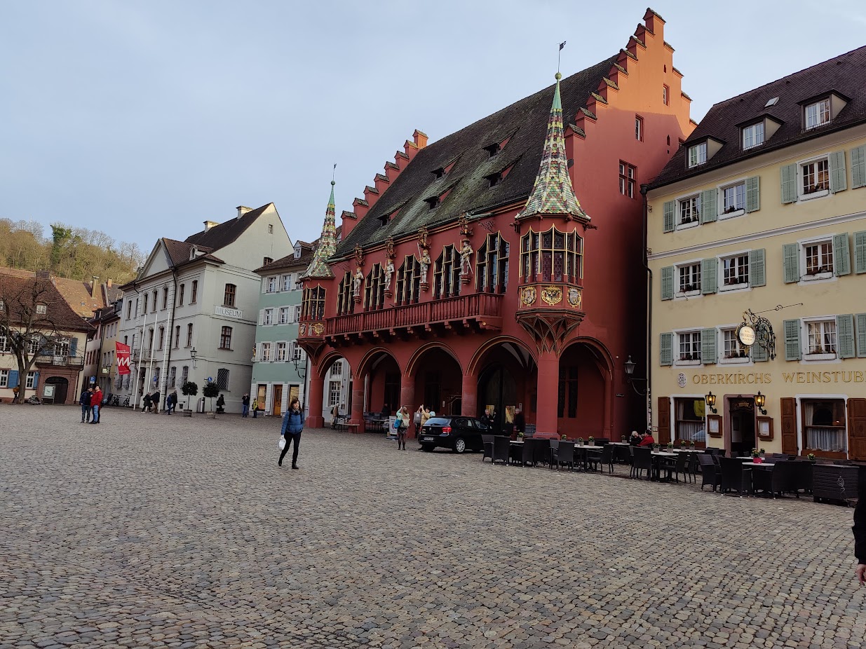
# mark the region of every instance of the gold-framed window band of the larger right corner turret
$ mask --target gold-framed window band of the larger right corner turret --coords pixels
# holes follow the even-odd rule
[[[530,229],[520,238],[520,274],[525,282],[579,284],[584,276],[584,240],[577,232]]]

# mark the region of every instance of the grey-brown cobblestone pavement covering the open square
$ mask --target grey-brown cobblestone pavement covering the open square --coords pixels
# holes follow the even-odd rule
[[[863,646],[843,507],[78,415],[0,406],[3,649]]]

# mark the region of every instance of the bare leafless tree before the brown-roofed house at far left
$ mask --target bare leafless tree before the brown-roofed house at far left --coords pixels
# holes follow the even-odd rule
[[[19,386],[37,357],[54,354],[58,338],[69,326],[68,314],[50,279],[0,276],[0,345],[16,357]],[[14,402],[23,403],[24,392],[19,388]]]

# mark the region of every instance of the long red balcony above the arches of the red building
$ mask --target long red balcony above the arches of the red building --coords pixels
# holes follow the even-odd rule
[[[393,338],[436,337],[502,328],[502,296],[472,293],[415,305],[326,318],[324,340],[334,346]]]

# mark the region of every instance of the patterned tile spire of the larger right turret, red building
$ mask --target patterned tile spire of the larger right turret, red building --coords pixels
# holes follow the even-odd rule
[[[556,73],[556,88],[553,91],[550,118],[547,119],[544,154],[541,156],[539,174],[535,177],[533,193],[529,195],[526,206],[514,217],[516,219],[534,215],[572,215],[586,221],[590,218],[580,207],[578,197],[574,195],[572,179],[568,176],[562,101],[559,99],[561,78],[562,74]]]

